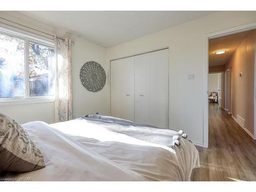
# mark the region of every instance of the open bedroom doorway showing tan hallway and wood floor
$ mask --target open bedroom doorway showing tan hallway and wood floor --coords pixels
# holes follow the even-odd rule
[[[221,99],[224,101],[222,106],[225,109],[221,109],[217,103],[207,102],[208,116],[204,122],[207,122],[209,129],[206,132],[204,129],[204,139],[207,139],[206,145],[209,149],[203,149],[199,154],[202,157],[200,163],[204,165],[202,172],[208,174],[209,180],[256,180],[253,175],[256,164],[251,163],[256,162],[255,156],[251,155],[256,153],[256,143],[253,140],[255,137],[251,134],[256,129],[255,42],[250,41],[253,39],[250,36],[252,29],[242,31],[245,33],[239,33],[239,29],[233,31],[236,33],[230,31],[231,36],[230,33],[225,35],[218,33],[207,36],[206,39],[209,44],[209,47],[206,46],[209,56],[206,74],[208,76],[208,73],[222,72],[224,97]],[[256,37],[256,32],[254,35]],[[239,36],[241,41],[236,41]],[[233,45],[233,52],[228,47],[228,42],[237,42],[237,47]],[[216,47],[212,48],[212,46]],[[221,51],[222,54],[217,51]],[[210,56],[215,56],[217,59],[210,59]],[[207,85],[208,83],[209,81]],[[249,126],[250,131],[247,129]],[[248,147],[249,150],[245,150]],[[237,165],[246,170],[243,175],[241,175],[243,170]]]

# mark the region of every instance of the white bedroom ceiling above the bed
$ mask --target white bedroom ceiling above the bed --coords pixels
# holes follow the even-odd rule
[[[215,11],[20,11],[40,22],[112,47]]]

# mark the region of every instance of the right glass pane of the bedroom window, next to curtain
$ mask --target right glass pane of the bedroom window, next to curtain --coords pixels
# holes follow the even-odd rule
[[[29,42],[29,94],[54,95],[55,52],[48,46]]]

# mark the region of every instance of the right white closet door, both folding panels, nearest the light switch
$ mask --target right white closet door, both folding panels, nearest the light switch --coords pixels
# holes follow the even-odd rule
[[[135,122],[168,127],[168,49],[135,56]]]

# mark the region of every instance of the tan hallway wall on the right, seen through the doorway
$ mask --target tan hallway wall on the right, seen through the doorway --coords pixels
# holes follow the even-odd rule
[[[254,134],[254,45],[256,30],[246,36],[225,66],[225,70],[232,67],[233,71],[233,99],[229,104],[231,114],[245,119],[245,127],[251,134]]]

